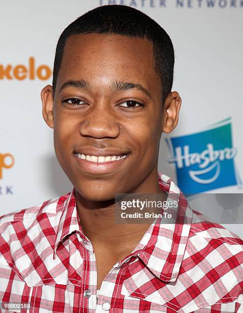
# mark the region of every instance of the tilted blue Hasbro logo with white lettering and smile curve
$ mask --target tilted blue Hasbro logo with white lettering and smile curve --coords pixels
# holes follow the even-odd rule
[[[232,145],[231,119],[218,122],[210,129],[187,136],[166,139],[176,165],[177,180],[184,193],[240,185],[234,164],[237,149]]]

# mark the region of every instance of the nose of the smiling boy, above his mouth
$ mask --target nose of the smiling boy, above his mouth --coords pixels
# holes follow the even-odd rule
[[[87,110],[80,126],[82,136],[93,138],[116,138],[119,131],[117,113],[105,101],[96,102],[92,108]]]

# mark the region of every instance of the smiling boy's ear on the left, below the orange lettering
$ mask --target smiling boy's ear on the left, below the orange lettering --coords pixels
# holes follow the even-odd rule
[[[45,123],[53,128],[54,127],[54,116],[53,116],[53,87],[51,85],[46,85],[41,91],[41,101],[42,101],[42,116]]]

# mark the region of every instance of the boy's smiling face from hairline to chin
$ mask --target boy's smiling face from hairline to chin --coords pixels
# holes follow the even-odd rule
[[[102,201],[115,193],[158,190],[161,96],[147,39],[68,38],[54,103],[51,86],[42,90],[43,116],[54,128],[57,159],[81,196]]]

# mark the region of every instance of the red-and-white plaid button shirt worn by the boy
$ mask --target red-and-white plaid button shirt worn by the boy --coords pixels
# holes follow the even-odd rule
[[[0,301],[29,303],[34,313],[243,312],[243,241],[191,210],[161,173],[159,185],[177,198],[186,223],[152,223],[110,270],[98,300],[95,256],[80,226],[75,189],[2,216]]]

